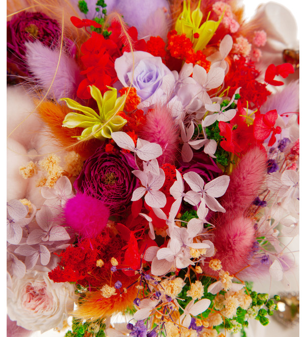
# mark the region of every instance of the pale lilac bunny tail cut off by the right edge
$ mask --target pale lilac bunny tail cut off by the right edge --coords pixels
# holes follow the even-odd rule
[[[290,82],[282,91],[278,91],[267,98],[261,107],[261,113],[276,109],[281,115],[285,112],[296,112],[299,109],[299,82]]]

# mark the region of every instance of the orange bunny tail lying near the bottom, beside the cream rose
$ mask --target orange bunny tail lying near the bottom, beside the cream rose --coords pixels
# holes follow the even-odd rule
[[[130,278],[126,276],[126,279]],[[121,290],[123,290],[123,287],[121,287]],[[122,294],[120,294],[119,290],[116,290],[117,294],[111,295],[111,298],[103,297],[101,291],[91,292],[82,300],[82,304],[78,306],[78,309],[72,312],[72,315],[82,320],[98,320],[132,308],[138,292],[136,286],[127,289],[126,293],[121,292]]]

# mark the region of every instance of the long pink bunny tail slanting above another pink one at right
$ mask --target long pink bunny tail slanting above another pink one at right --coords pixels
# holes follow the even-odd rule
[[[257,197],[266,173],[266,151],[260,147],[250,149],[234,168],[230,184],[219,200],[226,212],[244,212]]]

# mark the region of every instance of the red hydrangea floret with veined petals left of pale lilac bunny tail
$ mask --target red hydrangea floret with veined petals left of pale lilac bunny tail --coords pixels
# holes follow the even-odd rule
[[[276,119],[278,117],[276,110],[270,110],[266,114],[258,114],[254,119],[254,138],[257,140],[264,141],[270,136],[272,132],[271,138],[269,140],[268,146],[272,146],[275,141],[275,134],[279,134],[282,132],[280,127],[274,128]]]

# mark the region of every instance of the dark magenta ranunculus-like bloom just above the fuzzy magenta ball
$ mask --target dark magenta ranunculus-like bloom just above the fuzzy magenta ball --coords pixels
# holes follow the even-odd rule
[[[138,179],[132,174],[126,155],[119,152],[107,153],[104,147],[98,148],[83,166],[73,187],[102,200],[111,214],[120,214],[132,199]]]

